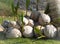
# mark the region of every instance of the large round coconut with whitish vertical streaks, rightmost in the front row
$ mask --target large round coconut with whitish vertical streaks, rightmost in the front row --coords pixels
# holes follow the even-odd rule
[[[44,29],[44,35],[48,38],[55,38],[57,33],[56,27],[53,25],[46,25]]]

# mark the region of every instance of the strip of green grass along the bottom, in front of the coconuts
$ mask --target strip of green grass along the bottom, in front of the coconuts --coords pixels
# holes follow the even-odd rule
[[[4,34],[0,32],[0,44],[60,44],[59,40],[53,39],[31,39],[31,38],[13,38],[5,39]]]

